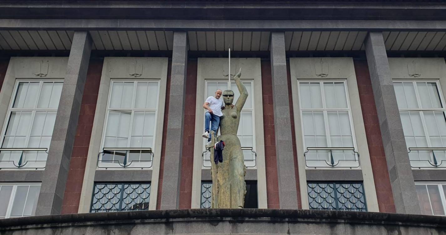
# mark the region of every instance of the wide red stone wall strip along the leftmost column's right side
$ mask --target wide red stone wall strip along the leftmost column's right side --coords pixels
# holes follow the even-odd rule
[[[87,80],[85,82],[78,127],[74,138],[73,153],[70,159],[70,171],[68,172],[66,181],[61,214],[78,213],[102,67],[102,60],[91,60],[88,66]]]

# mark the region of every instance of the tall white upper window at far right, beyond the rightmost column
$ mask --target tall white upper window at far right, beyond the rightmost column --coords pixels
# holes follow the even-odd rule
[[[393,83],[406,145],[446,147],[445,108],[438,81],[398,81]],[[446,160],[444,151],[435,151],[438,162]],[[413,167],[430,166],[432,151],[411,151]]]

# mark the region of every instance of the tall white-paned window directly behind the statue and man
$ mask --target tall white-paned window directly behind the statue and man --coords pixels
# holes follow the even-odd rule
[[[255,130],[254,130],[254,98],[252,97],[252,87],[253,87],[253,81],[243,81],[243,84],[246,87],[246,90],[248,90],[248,99],[246,100],[245,105],[243,106],[242,111],[240,112],[240,124],[239,129],[237,131],[237,136],[240,139],[240,144],[242,147],[252,147],[251,150],[243,150],[244,159],[245,159],[245,165],[246,167],[255,167],[255,154],[256,151],[256,138],[255,138]],[[227,90],[227,82],[226,81],[206,81],[206,96],[215,96],[215,91],[217,89],[221,89],[222,91]],[[235,82],[231,83],[231,89],[234,91],[234,102],[237,102],[237,99],[240,97],[240,92],[237,88],[237,85]],[[221,97],[222,99],[223,97]],[[203,101],[204,102],[204,101]],[[205,112],[205,111],[204,111]],[[204,115],[204,113],[203,113]],[[203,124],[203,130],[204,130],[204,124]],[[219,134],[218,134],[219,135]],[[206,139],[203,138],[203,150],[204,146],[206,144]],[[210,162],[210,153],[209,151],[205,152],[204,155],[204,167],[211,167]]]

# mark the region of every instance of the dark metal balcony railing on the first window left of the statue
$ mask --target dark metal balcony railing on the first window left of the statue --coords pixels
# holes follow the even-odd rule
[[[109,168],[151,168],[152,148],[103,148],[98,154],[97,167]]]

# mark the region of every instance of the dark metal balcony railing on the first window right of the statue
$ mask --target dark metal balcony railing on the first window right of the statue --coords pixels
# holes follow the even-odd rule
[[[360,166],[359,153],[354,147],[307,147],[304,157],[307,168],[352,169]]]

